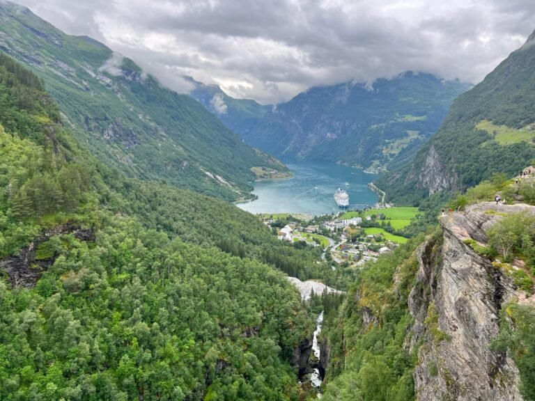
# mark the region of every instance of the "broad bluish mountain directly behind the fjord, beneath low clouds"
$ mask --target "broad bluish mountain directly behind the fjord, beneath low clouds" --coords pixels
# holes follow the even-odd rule
[[[396,166],[414,155],[469,87],[405,72],[378,79],[373,88],[352,82],[311,88],[277,105],[242,135],[277,156]]]

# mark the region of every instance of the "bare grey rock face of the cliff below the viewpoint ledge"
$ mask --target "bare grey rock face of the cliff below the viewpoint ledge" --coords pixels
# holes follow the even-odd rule
[[[499,333],[499,310],[518,295],[509,276],[474,253],[463,239],[486,242],[484,230],[527,205],[473,205],[442,217],[443,239],[417,250],[417,285],[409,297],[414,317],[410,347],[419,347],[414,369],[418,400],[522,400],[512,359],[491,349]]]

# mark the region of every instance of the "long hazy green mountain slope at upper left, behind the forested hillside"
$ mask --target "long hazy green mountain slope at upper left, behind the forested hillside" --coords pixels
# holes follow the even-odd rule
[[[65,35],[27,8],[0,3],[0,50],[45,81],[80,143],[130,177],[235,200],[249,197],[254,171],[286,171],[191,97],[164,88],[96,40]]]

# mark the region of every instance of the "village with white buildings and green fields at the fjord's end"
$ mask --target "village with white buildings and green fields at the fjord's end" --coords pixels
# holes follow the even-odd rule
[[[359,268],[406,242],[403,228],[417,219],[416,208],[391,207],[323,216],[263,214],[263,222],[281,241],[321,246],[322,258],[336,265]],[[336,265],[335,265],[336,264]]]

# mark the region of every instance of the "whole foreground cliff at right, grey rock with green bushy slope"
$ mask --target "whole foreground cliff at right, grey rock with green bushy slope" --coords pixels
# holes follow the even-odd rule
[[[510,221],[511,264],[491,238]],[[323,399],[534,400],[534,221],[531,205],[470,205],[364,267],[326,323]]]

